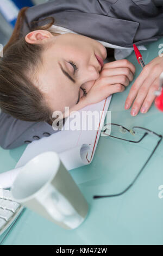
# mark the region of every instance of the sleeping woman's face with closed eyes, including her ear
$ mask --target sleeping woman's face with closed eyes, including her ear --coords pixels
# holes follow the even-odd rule
[[[45,94],[52,111],[64,112],[73,107],[99,78],[106,48],[98,41],[77,34],[52,35],[48,31],[34,31],[26,35],[29,43],[50,45],[43,51],[43,63],[37,72],[37,84]]]

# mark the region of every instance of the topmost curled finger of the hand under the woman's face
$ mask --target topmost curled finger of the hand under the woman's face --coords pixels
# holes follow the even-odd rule
[[[130,71],[133,74],[135,74],[135,66],[131,62],[129,62],[129,60],[127,59],[120,59],[120,60],[115,60],[115,62],[108,62],[104,64],[103,69],[104,68],[123,68],[123,67],[129,68]]]

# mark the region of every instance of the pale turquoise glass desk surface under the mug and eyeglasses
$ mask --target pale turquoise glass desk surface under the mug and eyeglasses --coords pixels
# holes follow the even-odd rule
[[[146,44],[147,51],[141,51],[146,64],[158,56],[161,43],[162,39]],[[128,59],[136,66],[136,78],[142,68],[134,53]],[[130,115],[130,109],[124,109],[133,82],[124,92],[112,96],[108,109],[111,123],[129,129],[142,126],[163,135],[163,113],[154,104],[146,114],[136,117]],[[152,143],[148,138],[145,144],[133,146],[100,137],[92,163],[70,171],[89,203],[84,223],[77,229],[64,230],[26,209],[2,245],[163,245],[163,198],[158,196],[163,185],[162,142],[129,191],[119,197],[93,199],[95,194],[121,192],[139,172]],[[0,148],[0,172],[14,168],[25,148]]]

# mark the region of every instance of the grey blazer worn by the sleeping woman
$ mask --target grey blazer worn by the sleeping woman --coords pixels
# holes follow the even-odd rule
[[[32,29],[32,21],[43,25],[52,16],[55,25],[110,44],[131,47],[163,36],[162,0],[54,0],[27,9],[21,36]],[[16,148],[56,131],[46,122],[27,122],[0,114],[0,145]]]

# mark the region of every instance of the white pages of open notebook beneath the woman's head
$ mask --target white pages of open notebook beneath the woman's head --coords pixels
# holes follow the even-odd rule
[[[102,113],[102,127],[106,111],[108,111],[110,100],[111,95],[106,100],[81,109],[79,111],[81,114],[81,120],[83,111],[98,111],[99,113]],[[66,122],[67,121],[68,119]],[[34,156],[46,151],[57,152],[67,170],[88,164],[92,161],[93,155],[95,154],[101,130],[100,127],[98,129],[98,126],[99,121],[95,125],[95,130],[61,130],[49,137],[41,138],[39,141],[34,141],[27,146],[20,160],[16,164],[16,167],[23,166]],[[87,152],[85,152],[84,149]]]

